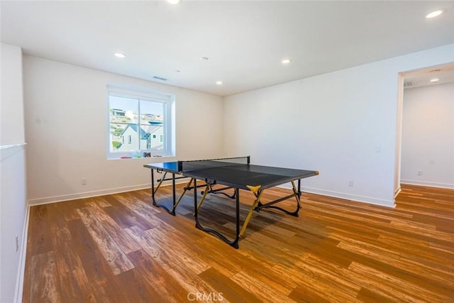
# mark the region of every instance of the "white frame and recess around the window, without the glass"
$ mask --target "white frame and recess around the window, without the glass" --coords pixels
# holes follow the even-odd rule
[[[131,151],[111,151],[111,126],[110,126],[110,96],[127,97],[143,101],[154,101],[164,104],[164,144],[162,150],[140,149]],[[175,94],[164,92],[154,92],[147,89],[128,88],[121,86],[107,86],[107,158],[119,159],[122,157],[143,158],[143,153],[151,153],[153,157],[173,157],[175,156]],[[139,101],[138,101],[139,102]],[[140,127],[140,116],[138,117]],[[140,135],[138,134],[138,142]],[[140,157],[137,157],[140,156]]]

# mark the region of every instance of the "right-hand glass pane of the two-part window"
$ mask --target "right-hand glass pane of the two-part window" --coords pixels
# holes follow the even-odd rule
[[[140,100],[140,149],[162,150],[164,135],[164,105],[161,102]]]

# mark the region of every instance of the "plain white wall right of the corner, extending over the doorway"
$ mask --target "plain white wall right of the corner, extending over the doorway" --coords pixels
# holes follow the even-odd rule
[[[453,44],[226,97],[226,153],[319,170],[309,192],[393,206],[399,72],[452,61]]]

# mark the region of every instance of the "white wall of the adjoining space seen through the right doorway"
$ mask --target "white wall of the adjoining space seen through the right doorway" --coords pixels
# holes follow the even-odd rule
[[[401,177],[454,188],[454,83],[405,89]]]

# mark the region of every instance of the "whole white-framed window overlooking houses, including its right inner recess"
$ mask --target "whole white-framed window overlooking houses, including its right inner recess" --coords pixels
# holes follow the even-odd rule
[[[143,152],[174,155],[174,99],[168,94],[108,87],[108,158],[138,156]]]

